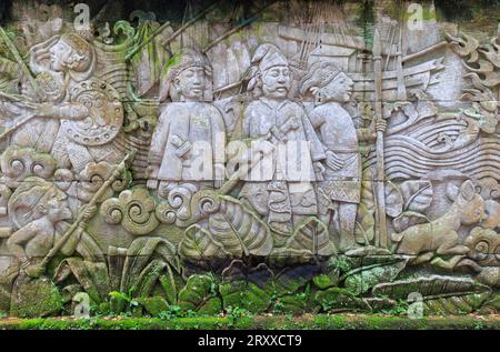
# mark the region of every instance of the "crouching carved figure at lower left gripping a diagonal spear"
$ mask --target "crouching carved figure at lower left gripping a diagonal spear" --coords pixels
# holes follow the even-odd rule
[[[82,208],[83,222],[92,218],[96,207]],[[9,217],[18,229],[8,237],[7,248],[17,260],[22,272],[37,278],[43,273],[43,258],[61,239],[73,218],[68,195],[53,183],[32,177],[22,182],[9,199]],[[77,251],[86,259],[101,257],[93,239],[78,227],[62,243],[60,252],[72,255]],[[19,268],[18,266],[18,268]]]

